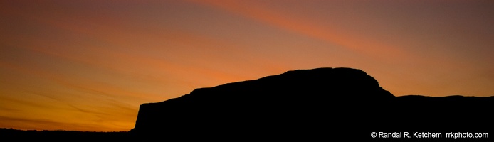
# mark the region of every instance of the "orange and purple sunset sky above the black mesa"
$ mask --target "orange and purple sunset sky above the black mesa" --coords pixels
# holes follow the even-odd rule
[[[318,67],[494,96],[494,1],[0,0],[0,128],[129,131],[140,104]]]

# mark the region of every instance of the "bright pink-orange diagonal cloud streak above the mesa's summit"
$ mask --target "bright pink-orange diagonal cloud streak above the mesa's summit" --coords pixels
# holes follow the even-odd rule
[[[290,13],[279,13],[264,7],[263,1],[237,1],[237,0],[191,0],[197,4],[213,6],[217,9],[224,9],[232,13],[246,16],[261,23],[284,29],[300,35],[306,35],[311,38],[323,40],[332,45],[352,50],[356,53],[367,55],[372,58],[387,59],[388,57],[408,56],[403,50],[392,45],[386,45],[384,42],[372,42],[359,38],[351,38],[347,33],[340,33],[332,30],[337,27],[321,27],[318,24],[311,23],[308,19],[290,16]],[[257,2],[257,3],[256,3]],[[335,19],[337,20],[337,19]],[[362,21],[364,22],[364,21]],[[352,31],[353,32],[353,31]]]

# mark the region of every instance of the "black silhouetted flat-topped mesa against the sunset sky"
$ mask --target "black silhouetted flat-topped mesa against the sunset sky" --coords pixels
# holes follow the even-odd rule
[[[373,131],[492,131],[494,97],[394,97],[362,70],[317,68],[195,89],[140,106],[132,133],[371,138]],[[453,123],[451,123],[453,122]]]

